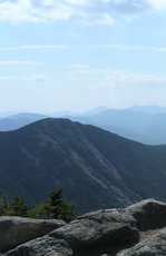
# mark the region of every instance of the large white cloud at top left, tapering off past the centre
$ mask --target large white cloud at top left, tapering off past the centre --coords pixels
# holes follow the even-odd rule
[[[18,0],[0,3],[0,20],[10,22],[53,22],[77,19],[87,22],[113,24],[108,10],[98,9],[94,0]]]

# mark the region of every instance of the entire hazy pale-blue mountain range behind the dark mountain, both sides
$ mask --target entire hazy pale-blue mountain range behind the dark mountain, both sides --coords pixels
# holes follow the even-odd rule
[[[94,125],[147,145],[166,144],[166,107],[158,106],[135,106],[128,109],[98,107],[81,116],[67,111],[46,115],[18,114],[0,118],[0,130],[14,130],[49,116]]]

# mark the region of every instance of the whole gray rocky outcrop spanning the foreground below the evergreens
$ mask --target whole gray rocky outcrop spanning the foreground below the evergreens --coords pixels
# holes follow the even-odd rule
[[[6,252],[8,256],[166,255],[166,204],[154,199],[125,209],[92,211],[66,225],[60,220],[1,219],[6,219],[0,221],[3,250],[27,239]],[[39,238],[30,238],[32,234]]]

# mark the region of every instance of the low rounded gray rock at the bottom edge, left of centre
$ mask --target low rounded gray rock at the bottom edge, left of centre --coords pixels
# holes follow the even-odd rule
[[[8,252],[8,256],[71,256],[72,250],[65,240],[43,236],[30,240],[16,249]]]

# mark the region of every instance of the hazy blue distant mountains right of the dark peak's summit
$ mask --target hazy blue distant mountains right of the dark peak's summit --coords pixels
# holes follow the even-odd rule
[[[166,108],[157,106],[106,109],[87,116],[68,116],[147,145],[166,144]]]

